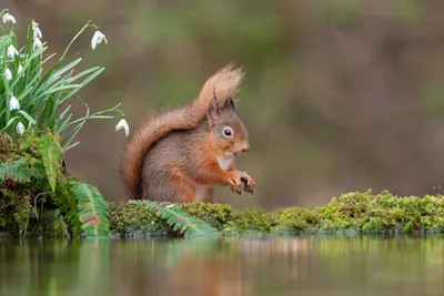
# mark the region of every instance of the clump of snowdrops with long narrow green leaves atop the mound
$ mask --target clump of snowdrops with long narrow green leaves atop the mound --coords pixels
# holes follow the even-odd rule
[[[0,11],[0,17],[7,10]],[[19,20],[20,21],[20,20]],[[0,35],[0,132],[22,134],[31,126],[38,133],[50,130],[61,136],[64,151],[75,146],[75,135],[88,120],[113,119],[105,115],[110,112],[123,112],[118,108],[90,114],[88,104],[79,96],[79,91],[95,79],[103,70],[93,67],[75,73],[82,58],[72,59],[67,53],[78,37],[88,28],[97,28],[89,22],[71,40],[58,60],[56,53],[47,54],[46,42],[34,34],[33,20],[28,24],[24,47],[19,47],[13,28],[6,35]],[[6,73],[10,73],[8,76]],[[11,102],[17,108],[11,108]],[[84,116],[74,119],[72,106],[80,104],[84,109]],[[54,170],[48,171],[49,180],[56,191]]]

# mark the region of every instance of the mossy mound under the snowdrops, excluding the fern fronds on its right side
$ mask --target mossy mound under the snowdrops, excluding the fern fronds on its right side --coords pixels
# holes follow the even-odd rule
[[[61,150],[57,135],[49,132],[43,135]],[[52,237],[67,236],[75,226],[80,228],[72,217],[60,214],[67,214],[72,207],[68,204],[72,200],[68,183],[75,177],[60,165],[58,187],[52,191],[42,161],[41,140],[42,134],[31,130],[20,137],[0,133],[1,233]]]

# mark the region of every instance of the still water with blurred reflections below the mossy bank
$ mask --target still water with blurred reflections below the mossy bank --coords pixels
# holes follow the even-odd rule
[[[1,241],[1,295],[442,295],[443,239]]]

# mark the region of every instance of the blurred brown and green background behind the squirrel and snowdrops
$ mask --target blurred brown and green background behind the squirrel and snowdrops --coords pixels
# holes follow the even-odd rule
[[[36,19],[49,52],[107,70],[82,93],[93,110],[122,102],[130,125],[147,111],[190,101],[234,61],[246,79],[236,99],[252,151],[239,169],[253,197],[219,201],[268,210],[320,205],[343,192],[433,192],[444,176],[444,1],[425,0],[2,0],[24,38]],[[80,111],[81,109],[79,109]],[[80,113],[79,113],[80,115]],[[68,165],[105,198],[124,198],[123,132],[89,122]]]

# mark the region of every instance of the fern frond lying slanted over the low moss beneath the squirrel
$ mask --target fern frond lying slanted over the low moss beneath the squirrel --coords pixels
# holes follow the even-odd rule
[[[176,207],[174,204],[167,205],[165,203],[157,203],[152,201],[129,201],[130,204],[147,206],[155,215],[167,221],[168,225],[179,232],[183,237],[190,238],[195,236],[215,237],[218,229],[210,226],[205,222],[195,218]]]

